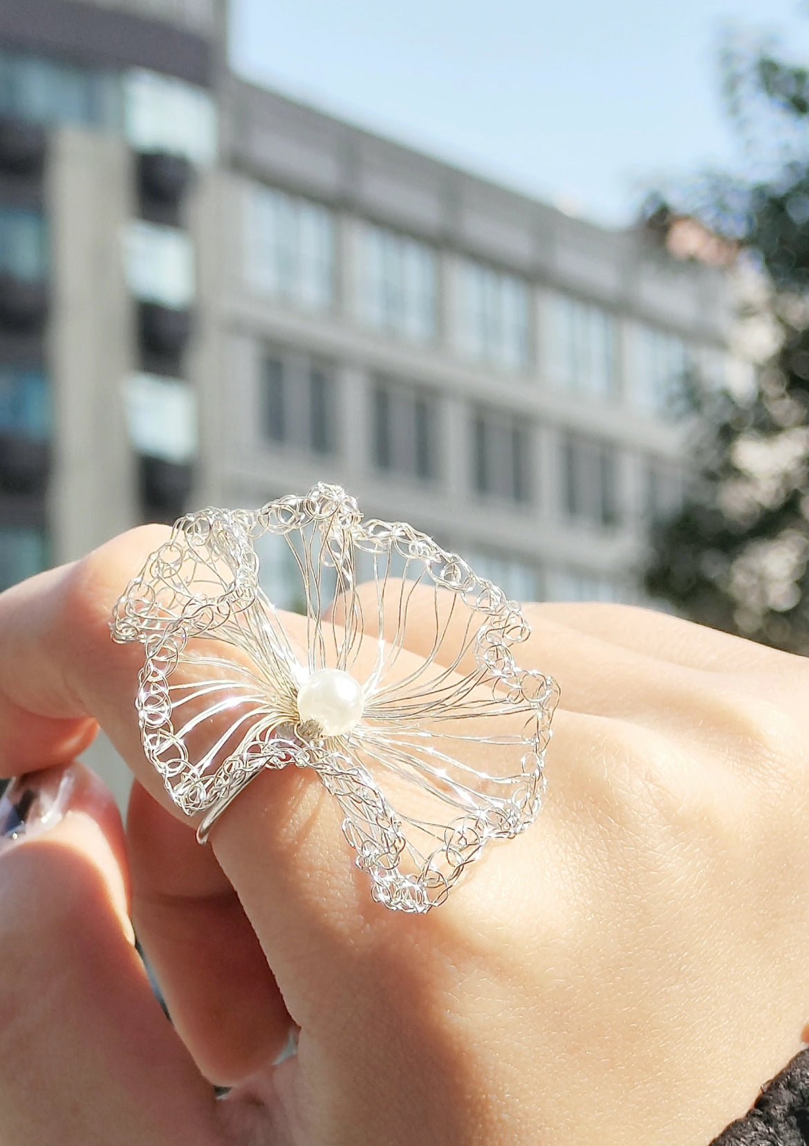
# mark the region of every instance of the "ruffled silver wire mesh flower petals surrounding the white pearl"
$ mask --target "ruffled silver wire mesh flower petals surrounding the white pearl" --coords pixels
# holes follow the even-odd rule
[[[300,618],[261,588],[265,537],[294,558]],[[428,911],[489,840],[537,816],[558,686],[515,661],[518,605],[406,523],[363,520],[336,486],[181,518],[112,635],[144,646],[143,747],[177,807],[196,816],[264,768],[311,768],[388,908]],[[363,688],[343,736],[299,719],[300,685],[325,667]]]

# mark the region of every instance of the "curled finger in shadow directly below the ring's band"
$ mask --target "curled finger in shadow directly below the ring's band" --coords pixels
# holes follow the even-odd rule
[[[212,849],[140,784],[127,842],[133,920],[172,1021],[203,1074],[232,1086],[290,1037],[267,958]]]

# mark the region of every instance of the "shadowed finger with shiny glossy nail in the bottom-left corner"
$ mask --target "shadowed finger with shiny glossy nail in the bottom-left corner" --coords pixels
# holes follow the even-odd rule
[[[222,1146],[133,947],[111,796],[80,766],[24,777],[0,826],[2,1140]]]

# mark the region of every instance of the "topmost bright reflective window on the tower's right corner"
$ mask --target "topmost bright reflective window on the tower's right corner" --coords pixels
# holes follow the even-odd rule
[[[124,74],[124,134],[138,151],[168,151],[206,165],[216,157],[209,94],[184,80],[135,68]]]

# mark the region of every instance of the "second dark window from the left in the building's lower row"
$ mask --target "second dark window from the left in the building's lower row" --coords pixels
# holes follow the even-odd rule
[[[438,407],[428,391],[380,379],[373,387],[373,462],[378,470],[430,480],[437,473]]]

